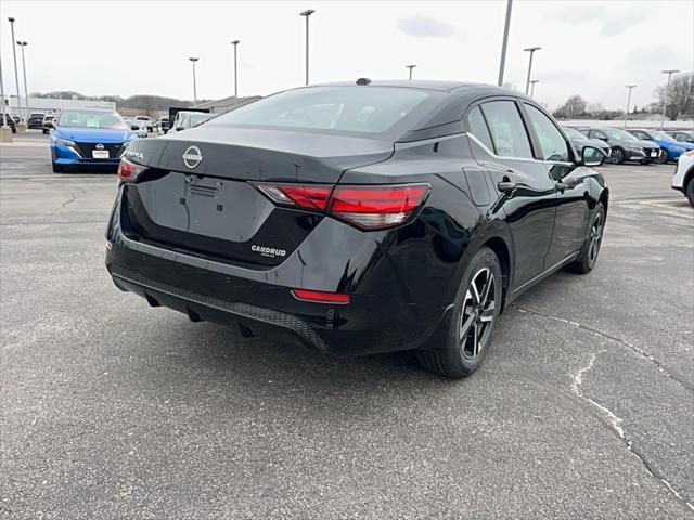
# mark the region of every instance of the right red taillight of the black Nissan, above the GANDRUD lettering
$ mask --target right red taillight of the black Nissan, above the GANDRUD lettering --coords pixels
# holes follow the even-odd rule
[[[424,204],[428,184],[335,186],[257,183],[270,200],[325,211],[364,230],[383,230],[407,222]],[[332,194],[331,194],[332,192]]]

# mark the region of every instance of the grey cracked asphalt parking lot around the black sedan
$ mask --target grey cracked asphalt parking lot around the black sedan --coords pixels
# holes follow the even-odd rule
[[[0,517],[694,517],[694,211],[606,166],[601,259],[450,381],[193,324],[103,266],[112,174],[0,147]]]

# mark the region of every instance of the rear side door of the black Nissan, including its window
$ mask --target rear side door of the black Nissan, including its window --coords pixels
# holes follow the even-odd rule
[[[514,99],[483,101],[466,114],[475,159],[487,169],[505,213],[514,253],[514,287],[544,271],[556,202],[554,181],[534,157],[530,136]],[[505,185],[503,183],[506,183]]]

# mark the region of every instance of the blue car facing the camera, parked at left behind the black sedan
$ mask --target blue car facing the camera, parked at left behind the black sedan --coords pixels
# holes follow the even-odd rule
[[[54,172],[83,166],[115,169],[136,139],[120,115],[108,109],[63,110],[54,125],[50,139]]]

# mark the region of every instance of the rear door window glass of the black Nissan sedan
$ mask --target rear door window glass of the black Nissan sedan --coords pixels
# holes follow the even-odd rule
[[[497,155],[532,158],[530,140],[513,101],[491,101],[481,105],[489,123]]]

